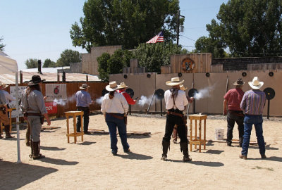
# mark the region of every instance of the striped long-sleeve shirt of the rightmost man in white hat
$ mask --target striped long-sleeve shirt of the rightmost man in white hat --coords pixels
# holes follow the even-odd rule
[[[260,90],[246,91],[240,103],[240,108],[247,115],[262,115],[266,101],[266,95]]]

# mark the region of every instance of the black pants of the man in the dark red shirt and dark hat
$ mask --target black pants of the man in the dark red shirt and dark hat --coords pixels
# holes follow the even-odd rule
[[[239,114],[239,115],[238,115]],[[240,114],[243,114],[243,111],[230,111],[228,110],[227,113],[227,143],[232,143],[233,138],[233,128],[235,125],[235,122],[238,125],[238,131],[239,131],[239,139],[243,138],[244,134],[244,116],[240,116]]]

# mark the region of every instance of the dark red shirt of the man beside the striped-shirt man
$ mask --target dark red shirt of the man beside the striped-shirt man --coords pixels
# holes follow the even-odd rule
[[[244,91],[240,88],[228,90],[223,97],[227,101],[228,110],[241,110],[240,103],[243,99],[243,96]]]

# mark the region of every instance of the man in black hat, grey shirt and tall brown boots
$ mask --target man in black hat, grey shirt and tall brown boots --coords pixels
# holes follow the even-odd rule
[[[20,107],[25,113],[25,118],[30,125],[30,158],[34,160],[45,158],[40,153],[40,132],[44,122],[43,117],[47,120],[47,125],[51,125],[47,108],[45,107],[44,96],[41,92],[41,80],[39,75],[33,75],[32,80],[28,82],[28,88],[25,89],[20,97]]]

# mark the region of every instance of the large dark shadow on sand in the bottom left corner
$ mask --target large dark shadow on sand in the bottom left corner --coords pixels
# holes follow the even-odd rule
[[[26,184],[58,171],[52,167],[42,167],[24,163],[11,163],[0,160],[0,189],[19,189]]]

